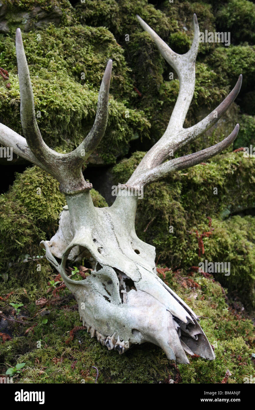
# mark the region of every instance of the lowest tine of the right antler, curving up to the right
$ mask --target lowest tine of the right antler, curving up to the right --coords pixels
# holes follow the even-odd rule
[[[185,155],[184,157],[174,158],[164,164],[158,165],[153,169],[148,169],[140,173],[139,179],[132,181],[132,177],[126,183],[126,185],[138,185],[146,186],[151,182],[155,182],[165,176],[171,174],[172,172],[178,171],[180,169],[187,169],[194,165],[200,164],[201,162],[214,157],[214,155],[219,154],[221,151],[226,149],[237,137],[239,131],[239,124],[237,124],[234,130],[228,137],[223,139],[216,145],[213,145],[204,150],[198,151],[193,154]]]

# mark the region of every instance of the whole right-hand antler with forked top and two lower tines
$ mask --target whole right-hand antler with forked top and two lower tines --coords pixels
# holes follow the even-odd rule
[[[232,133],[219,144],[206,148],[205,150],[197,153],[186,155],[185,157],[169,160],[165,164],[162,164],[169,158],[170,150],[173,150],[174,152],[178,148],[181,148],[202,132],[208,130],[208,128],[210,128],[219,120],[219,118],[221,118],[240,91],[242,75],[239,76],[239,79],[232,91],[214,111],[192,127],[183,128],[183,123],[190,107],[195,88],[195,63],[199,48],[199,25],[196,14],[194,14],[194,39],[192,46],[190,50],[183,55],[172,51],[171,48],[167,46],[162,39],[160,39],[158,34],[156,34],[151,27],[149,27],[142,20],[142,18],[140,18],[140,16],[137,16],[137,18],[144,30],[146,30],[155,41],[162,56],[174,68],[180,81],[178,98],[165,133],[143,157],[131,178],[128,182],[126,182],[126,185],[145,186],[152,181],[156,181],[165,175],[176,171],[177,169],[189,168],[190,166],[199,164],[201,161],[217,155],[235,140],[239,130],[238,124],[235,126]],[[216,116],[215,112],[217,112]]]

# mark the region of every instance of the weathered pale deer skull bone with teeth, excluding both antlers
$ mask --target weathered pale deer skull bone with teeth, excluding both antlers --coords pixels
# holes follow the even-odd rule
[[[213,360],[199,318],[160,280],[155,248],[135,234],[137,199],[120,196],[111,207],[95,208],[83,192],[67,196],[67,203],[56,235],[41,246],[74,294],[91,337],[120,354],[132,344],[151,342],[169,360],[189,363],[185,352]],[[84,257],[91,261],[91,274],[81,281],[68,278],[67,259]]]

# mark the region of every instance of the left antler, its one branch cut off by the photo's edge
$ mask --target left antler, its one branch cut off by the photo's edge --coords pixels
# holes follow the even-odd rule
[[[92,188],[81,172],[81,165],[101,141],[108,119],[108,95],[112,60],[108,61],[98,95],[95,122],[87,137],[71,153],[60,154],[49,148],[41,136],[34,112],[34,96],[23,47],[21,31],[16,31],[16,54],[20,84],[20,116],[25,138],[0,124],[0,142],[13,147],[16,154],[29,159],[50,173],[60,183],[60,191],[74,194]]]

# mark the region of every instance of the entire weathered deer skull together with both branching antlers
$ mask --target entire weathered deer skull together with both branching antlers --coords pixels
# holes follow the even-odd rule
[[[217,155],[235,140],[239,125],[210,148],[184,157],[169,159],[169,152],[187,144],[210,128],[226,112],[241,87],[237,84],[223,102],[199,123],[183,128],[195,87],[195,61],[199,46],[199,25],[194,15],[194,40],[190,50],[178,55],[138,16],[161,54],[176,71],[180,91],[165,134],[144,155],[125,187],[136,190],[165,175],[186,169]],[[20,29],[16,32],[16,53],[20,83],[20,116],[25,138],[0,124],[0,143],[12,146],[16,154],[53,175],[65,194],[67,206],[61,213],[59,230],[50,241],[42,241],[47,259],[61,274],[74,294],[79,313],[91,337],[124,353],[131,344],[151,342],[167,358],[189,363],[187,356],[198,354],[213,360],[214,352],[199,326],[199,318],[156,274],[155,248],[135,233],[138,196],[126,196],[122,189],[111,207],[96,208],[81,166],[101,141],[108,118],[108,93],[112,61],[106,66],[99,90],[93,128],[71,153],[50,149],[36,123],[32,84]],[[215,111],[217,116],[215,116]],[[124,188],[124,186],[122,186]],[[74,281],[65,272],[66,261],[93,260],[93,271],[85,280]],[[61,260],[61,262],[59,262]]]

